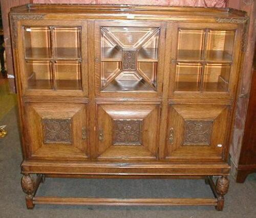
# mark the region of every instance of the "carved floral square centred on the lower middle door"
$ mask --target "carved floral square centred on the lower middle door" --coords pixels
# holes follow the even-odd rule
[[[141,145],[142,119],[114,119],[114,145]]]

